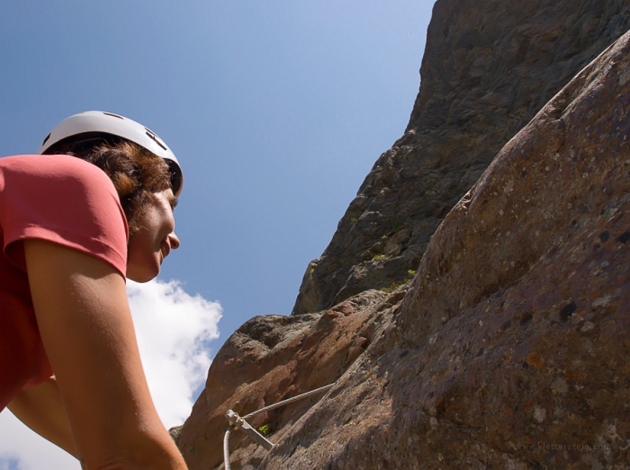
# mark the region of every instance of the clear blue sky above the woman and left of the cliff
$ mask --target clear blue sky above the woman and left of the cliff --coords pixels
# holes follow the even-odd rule
[[[220,303],[213,354],[248,318],[290,314],[401,137],[433,3],[5,0],[0,155],[34,152],[79,111],[157,132],[185,181],[160,279]]]

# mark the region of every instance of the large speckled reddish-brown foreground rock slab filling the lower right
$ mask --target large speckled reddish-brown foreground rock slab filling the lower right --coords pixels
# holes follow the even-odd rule
[[[503,147],[259,469],[630,466],[630,33]]]

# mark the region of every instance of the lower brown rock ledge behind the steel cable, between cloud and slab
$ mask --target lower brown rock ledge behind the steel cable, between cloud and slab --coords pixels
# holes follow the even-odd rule
[[[225,412],[241,416],[268,404],[335,382],[381,331],[404,293],[369,290],[333,309],[313,315],[257,316],[243,324],[221,347],[206,388],[176,440],[193,468],[213,468],[223,461]],[[252,426],[266,425],[281,438],[320,396],[260,414]],[[232,468],[259,463],[266,450],[243,433],[230,441]]]

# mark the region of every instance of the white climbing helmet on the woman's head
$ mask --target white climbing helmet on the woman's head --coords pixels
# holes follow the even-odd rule
[[[99,140],[105,135],[121,137],[143,146],[149,152],[161,156],[171,171],[171,183],[175,196],[179,196],[184,186],[184,173],[177,161],[177,157],[164,141],[157,137],[151,129],[145,128],[139,122],[124,118],[119,114],[105,111],[79,112],[62,120],[46,136],[38,149],[38,154],[46,151],[58,142],[68,139],[72,142]],[[69,137],[74,137],[69,139]]]

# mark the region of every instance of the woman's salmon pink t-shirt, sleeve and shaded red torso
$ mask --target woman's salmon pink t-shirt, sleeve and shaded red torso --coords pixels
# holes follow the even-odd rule
[[[22,241],[47,240],[124,277],[127,221],[111,180],[69,155],[0,158],[0,411],[53,373],[32,307]]]

